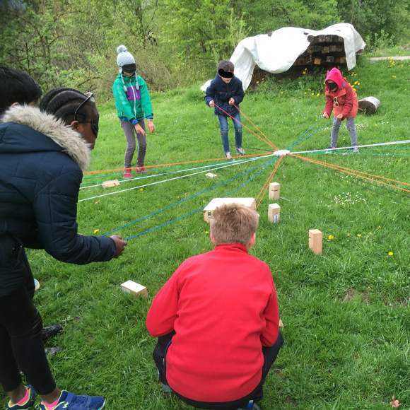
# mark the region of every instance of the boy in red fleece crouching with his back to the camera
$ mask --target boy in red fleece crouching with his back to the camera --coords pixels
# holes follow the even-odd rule
[[[164,392],[199,409],[259,409],[252,402],[283,344],[271,271],[248,253],[258,218],[242,204],[218,206],[215,250],[185,260],[148,312]]]

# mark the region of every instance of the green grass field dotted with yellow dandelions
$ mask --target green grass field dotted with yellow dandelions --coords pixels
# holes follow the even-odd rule
[[[409,61],[361,58],[344,75],[359,100],[374,96],[381,102],[375,115],[356,117],[359,145],[408,140]],[[261,78],[240,109],[279,149],[299,137],[292,152],[327,148],[331,122],[322,119],[324,76],[307,68],[292,80]],[[199,85],[151,95],[151,174],[126,181],[121,170],[84,175],[78,231],[103,235],[127,225],[115,231],[134,237],[122,257],[74,266],[43,251],[28,252],[41,285],[35,305],[43,322],[64,324],[64,332],[47,341],[64,348],[51,361],[57,385],[105,395],[107,409],[192,409],[162,397],[146,312],[184,259],[212,249],[201,208],[215,197],[256,198],[277,163],[261,155],[274,148],[247,129],[243,147],[252,156],[228,164],[215,159],[223,157],[218,120]],[[90,170],[122,168],[126,144],[114,101],[98,107],[101,131]],[[244,116],[242,123],[255,131]],[[235,151],[232,125],[230,142]],[[338,147],[349,146],[343,124]],[[393,395],[400,409],[410,409],[409,148],[407,143],[361,148],[357,155],[300,154],[351,173],[292,156],[281,160],[272,179],[281,184],[281,219],[268,221],[266,193],[251,250],[271,268],[284,324],[285,344],[266,379],[262,409],[389,409]],[[217,179],[206,178],[206,172]],[[116,178],[119,187],[102,189],[103,181]],[[308,247],[313,228],[323,233],[322,255]],[[122,292],[119,285],[129,279],[146,286],[149,298]]]

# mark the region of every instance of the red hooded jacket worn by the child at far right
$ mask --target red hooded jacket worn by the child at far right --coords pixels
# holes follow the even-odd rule
[[[335,92],[329,90],[327,86],[328,80],[332,80],[337,84],[337,90]],[[324,107],[324,112],[327,112],[327,115],[330,117],[332,109],[334,109],[334,117],[337,117],[339,114],[343,115],[343,119],[356,117],[358,111],[357,94],[346,81],[346,78],[341,76],[339,69],[335,67],[327,71],[324,83],[326,84],[324,86],[324,95],[326,95],[326,107]]]

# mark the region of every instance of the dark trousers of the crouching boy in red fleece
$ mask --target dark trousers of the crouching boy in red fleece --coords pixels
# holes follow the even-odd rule
[[[166,352],[168,350],[168,346],[172,343],[172,336],[174,336],[175,332],[171,332],[170,334],[166,334],[165,336],[158,337],[158,342],[156,347],[153,351],[153,358],[156,362],[158,368],[158,374],[160,382],[164,385],[168,385],[167,377],[166,377]],[[259,385],[255,387],[253,392],[247,394],[245,397],[241,397],[238,400],[234,400],[233,402],[197,402],[196,400],[191,400],[187,397],[183,397],[181,394],[178,394],[174,391],[177,397],[197,409],[213,409],[213,410],[236,410],[238,407],[246,407],[247,403],[250,400],[261,400],[264,396],[263,394],[263,385],[266,379],[266,375],[269,373],[269,369],[271,365],[276,360],[278,356],[279,350],[283,344],[283,336],[281,332],[278,334],[278,338],[276,339],[273,346],[270,347],[262,347],[262,353],[264,354],[264,365],[262,368],[262,377]]]

